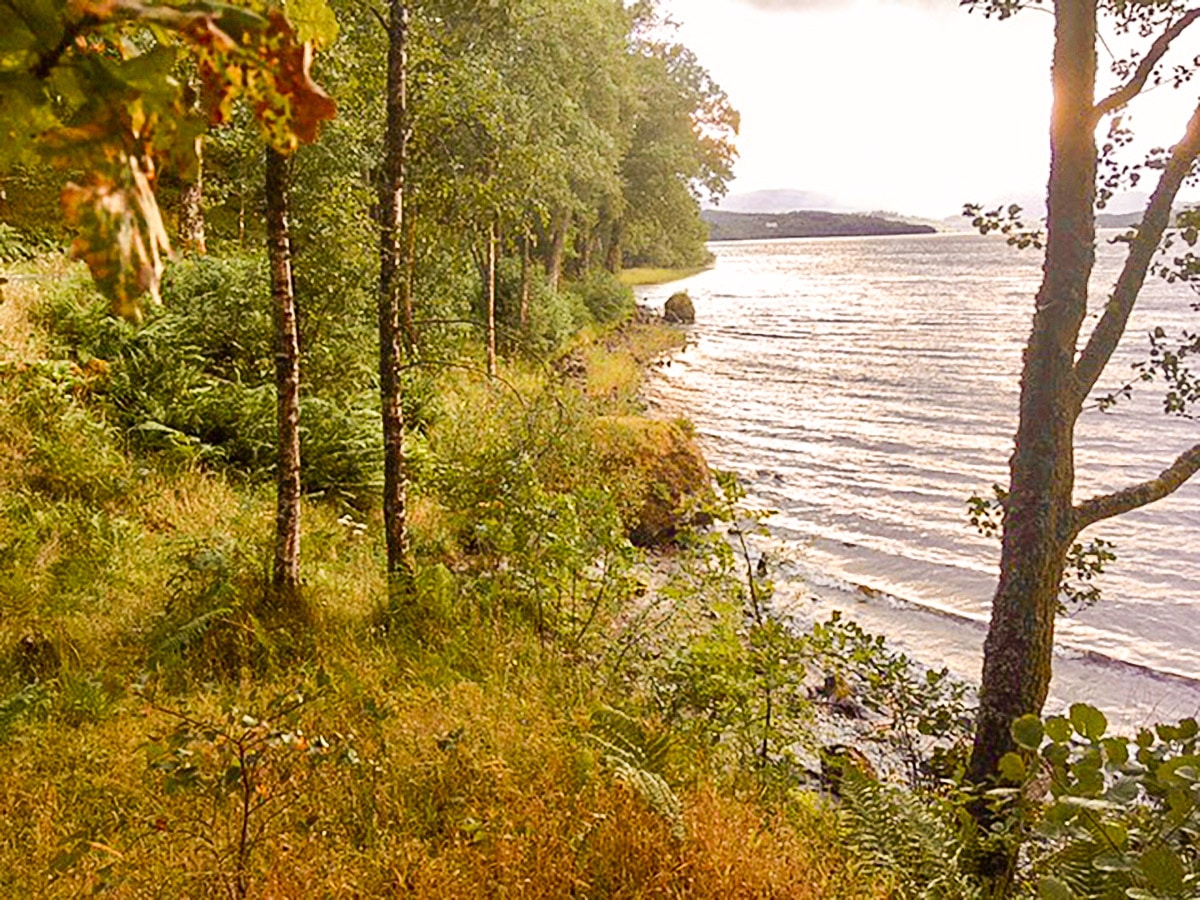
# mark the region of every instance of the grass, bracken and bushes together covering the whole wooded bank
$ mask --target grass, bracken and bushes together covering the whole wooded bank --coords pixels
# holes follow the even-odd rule
[[[684,541],[662,589],[641,506],[596,478],[595,421],[637,412],[630,360],[674,338],[596,330],[574,373],[443,370],[413,409],[403,610],[360,490],[367,415],[308,408],[312,612],[282,622],[257,264],[178,271],[196,302],[169,289],[142,330],[56,265],[0,307],[0,895],[888,895],[823,800],[745,767],[762,728],[737,696],[706,682],[728,712],[706,722],[655,688],[676,638],[781,660],[742,643],[727,557]],[[356,416],[355,378],[313,402]],[[622,464],[620,491],[654,493],[655,460]],[[796,686],[772,672],[755,703]],[[790,734],[767,730],[770,758]]]

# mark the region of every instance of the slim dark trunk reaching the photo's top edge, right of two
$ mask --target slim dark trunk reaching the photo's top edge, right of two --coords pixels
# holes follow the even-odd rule
[[[401,314],[406,130],[408,127],[408,6],[391,0],[388,24],[388,125],[384,136],[384,185],[379,198],[379,391],[384,439],[383,517],[388,539],[388,581],[394,599],[413,588],[408,547],[408,472],[404,461],[404,413]]]

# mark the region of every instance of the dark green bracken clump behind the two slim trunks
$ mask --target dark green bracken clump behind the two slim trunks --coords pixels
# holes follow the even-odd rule
[[[80,364],[103,370],[94,392],[134,448],[215,462],[253,479],[270,476],[274,337],[262,260],[205,258],[173,266],[163,306],[151,310],[140,326],[112,318],[91,294],[80,302],[82,292],[78,282],[60,290],[47,324]],[[360,335],[349,331],[346,338],[342,356],[370,356]],[[308,492],[360,503],[380,480],[378,402],[364,383],[365,366],[330,366],[325,377],[304,388],[301,454]]]

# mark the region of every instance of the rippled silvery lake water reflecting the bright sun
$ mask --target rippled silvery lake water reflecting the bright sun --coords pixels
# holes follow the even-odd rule
[[[1102,235],[1085,335],[1123,259],[1114,234]],[[1040,254],[966,234],[709,246],[712,270],[638,292],[661,307],[686,289],[697,314],[650,404],[691,419],[713,466],[774,510],[761,550],[781,606],[845,610],[977,679],[998,542],[973,530],[966,504],[1007,484]],[[1097,394],[1130,379],[1153,328],[1195,330],[1196,300],[1148,282]],[[1078,498],[1156,475],[1200,439],[1162,398],[1160,384],[1139,385],[1114,410],[1084,413]],[[1085,534],[1118,559],[1097,582],[1102,602],[1060,618],[1052,703],[1200,709],[1198,535],[1200,480]]]

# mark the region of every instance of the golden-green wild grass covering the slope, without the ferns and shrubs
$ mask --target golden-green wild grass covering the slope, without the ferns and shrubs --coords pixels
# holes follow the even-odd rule
[[[103,367],[53,360],[32,316],[60,270],[25,266],[47,280],[0,305],[0,896],[884,895],[820,804],[760,799],[688,748],[673,828],[583,737],[604,680],[470,593],[487,582],[430,588],[422,641],[380,618],[373,516],[306,506],[312,619],[272,623],[252,602],[270,492],[126,456],[89,402]],[[628,412],[661,335],[584,340],[584,392]],[[442,389],[434,446],[520,419],[478,380]],[[449,580],[449,514],[424,498],[414,520]],[[198,596],[233,612],[197,624]]]

